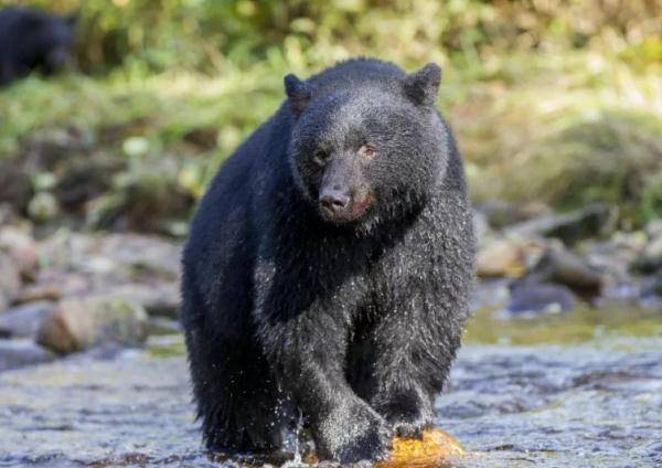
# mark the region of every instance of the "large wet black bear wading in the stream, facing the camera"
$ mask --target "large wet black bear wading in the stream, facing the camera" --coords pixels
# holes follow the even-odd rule
[[[359,59],[307,81],[225,162],[183,254],[182,320],[212,450],[380,459],[434,421],[469,316],[462,162],[441,71]]]

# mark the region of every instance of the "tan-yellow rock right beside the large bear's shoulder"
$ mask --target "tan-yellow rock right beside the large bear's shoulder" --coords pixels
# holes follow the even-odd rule
[[[491,240],[478,253],[478,275],[490,277],[520,277],[543,249],[535,241],[519,238]]]

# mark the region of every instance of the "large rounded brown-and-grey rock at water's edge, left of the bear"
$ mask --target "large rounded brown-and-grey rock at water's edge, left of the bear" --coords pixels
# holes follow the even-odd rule
[[[40,323],[38,342],[66,354],[105,343],[137,347],[148,334],[142,307],[116,298],[64,299]]]

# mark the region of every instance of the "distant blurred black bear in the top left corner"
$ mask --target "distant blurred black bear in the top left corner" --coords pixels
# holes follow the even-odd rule
[[[68,60],[76,17],[8,7],[0,11],[0,85],[34,70],[52,73]]]

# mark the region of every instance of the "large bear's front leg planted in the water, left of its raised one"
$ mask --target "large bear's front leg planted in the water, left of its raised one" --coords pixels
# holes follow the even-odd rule
[[[388,455],[386,421],[345,379],[348,331],[338,313],[308,310],[271,320],[259,334],[279,382],[310,424],[320,458],[349,464]]]

